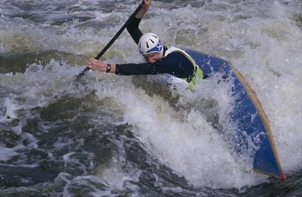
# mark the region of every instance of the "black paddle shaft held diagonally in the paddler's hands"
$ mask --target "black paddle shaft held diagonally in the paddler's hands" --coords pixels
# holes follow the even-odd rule
[[[121,33],[126,29],[128,24],[133,20],[135,15],[140,11],[142,8],[143,3],[141,3],[138,8],[134,11],[134,13],[129,17],[129,19],[126,21],[126,23],[123,25],[123,27],[115,34],[115,36],[110,40],[110,42],[105,46],[105,48],[98,54],[98,56],[95,58],[96,60],[99,60],[102,55],[109,49],[109,47],[114,43],[114,41],[121,35]],[[86,67],[78,76],[77,79],[80,79],[82,76],[86,74],[86,72],[90,68]]]

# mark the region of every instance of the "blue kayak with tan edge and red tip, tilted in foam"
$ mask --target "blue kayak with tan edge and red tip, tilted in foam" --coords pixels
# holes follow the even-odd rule
[[[185,50],[202,69],[207,77],[216,72],[223,73],[224,80],[234,82],[232,94],[235,96],[235,109],[229,114],[237,126],[237,138],[234,144],[239,147],[238,153],[247,150],[245,147],[253,143],[253,170],[285,180],[274,138],[268,118],[257,99],[256,92],[245,81],[244,77],[234,69],[232,63],[205,53]],[[248,141],[249,140],[249,141]]]

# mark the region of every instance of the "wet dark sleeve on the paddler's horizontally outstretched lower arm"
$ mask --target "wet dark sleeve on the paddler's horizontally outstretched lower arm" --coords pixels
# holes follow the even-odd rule
[[[168,73],[179,78],[187,78],[194,71],[191,62],[182,54],[173,52],[154,63],[116,64],[115,74],[146,75]]]

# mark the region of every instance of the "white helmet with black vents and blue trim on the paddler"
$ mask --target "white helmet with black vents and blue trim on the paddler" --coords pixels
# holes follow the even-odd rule
[[[139,38],[138,50],[142,55],[163,51],[163,45],[159,37],[154,33],[146,33]]]

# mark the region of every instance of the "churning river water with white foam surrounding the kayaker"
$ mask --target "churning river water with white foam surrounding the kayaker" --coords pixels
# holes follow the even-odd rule
[[[268,116],[285,182],[251,170],[215,127],[230,129],[235,100],[219,78],[193,92],[146,76],[74,80],[139,1],[0,3],[1,196],[302,195],[301,1],[153,1],[140,24],[232,62]],[[101,60],[144,61],[126,31]]]

